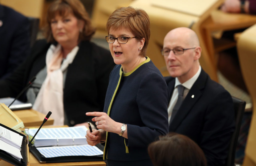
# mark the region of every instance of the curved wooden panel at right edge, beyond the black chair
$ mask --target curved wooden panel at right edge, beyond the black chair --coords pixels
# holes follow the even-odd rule
[[[254,165],[256,163],[256,24],[245,30],[238,39],[237,50],[238,57],[249,94],[252,98],[253,113],[248,134],[245,154]],[[248,160],[249,161],[249,160]],[[244,164],[250,165],[250,164]]]

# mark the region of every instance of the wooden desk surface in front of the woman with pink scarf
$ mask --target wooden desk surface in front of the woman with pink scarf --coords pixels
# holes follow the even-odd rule
[[[33,109],[17,110],[13,112],[23,121],[25,127],[40,126],[46,116]],[[49,118],[44,125],[52,125],[53,121],[52,118]]]

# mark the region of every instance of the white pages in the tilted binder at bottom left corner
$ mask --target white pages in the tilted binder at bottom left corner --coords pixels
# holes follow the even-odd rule
[[[6,151],[17,160],[22,159],[20,152],[23,137],[0,126],[0,149]]]

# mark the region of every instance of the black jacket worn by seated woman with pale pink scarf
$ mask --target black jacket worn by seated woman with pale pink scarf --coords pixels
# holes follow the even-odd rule
[[[28,81],[45,67],[50,43],[39,40],[29,56],[14,73],[0,80],[0,97],[16,97]],[[109,74],[115,66],[110,52],[89,41],[79,44],[79,50],[68,71],[63,90],[64,110],[72,125],[91,121],[86,112],[103,111]],[[19,98],[26,101],[26,92]]]

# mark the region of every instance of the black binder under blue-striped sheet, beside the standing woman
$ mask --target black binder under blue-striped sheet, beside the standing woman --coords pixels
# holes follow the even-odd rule
[[[103,151],[104,146],[96,145]],[[81,162],[81,161],[103,161],[103,155],[97,156],[61,156],[46,158],[37,150],[35,146],[29,146],[29,151],[36,157],[40,163],[55,163],[55,162]]]

